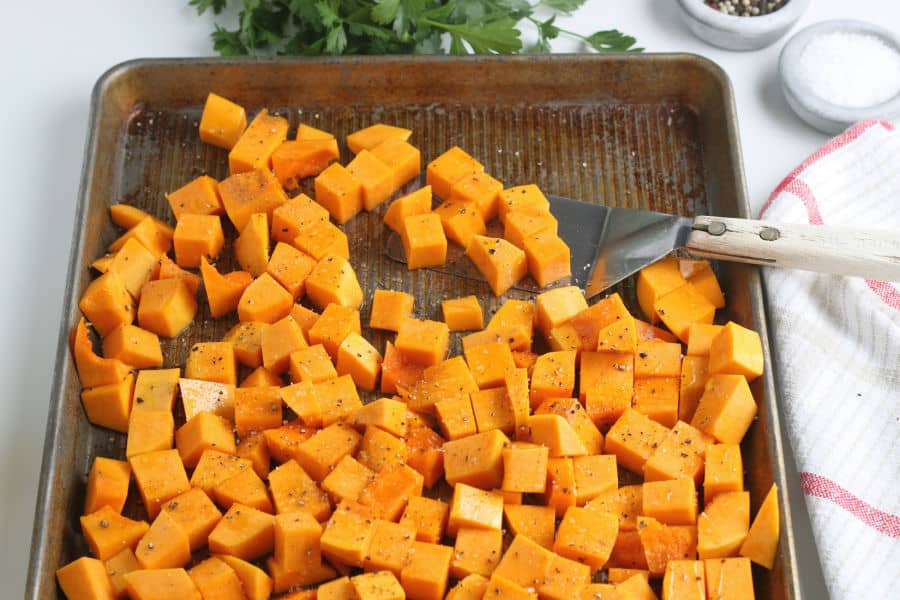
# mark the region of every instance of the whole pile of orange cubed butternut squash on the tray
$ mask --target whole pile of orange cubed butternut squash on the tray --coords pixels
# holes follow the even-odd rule
[[[85,414],[125,434],[125,453],[93,460],[90,555],[57,571],[66,597],[754,597],[751,562],[771,569],[779,537],[774,486],[751,522],[740,447],[762,346],[713,324],[724,300],[709,263],[638,276],[650,323],[575,287],[507,300],[486,325],[475,296],[427,320],[402,290],[376,290],[361,315],[332,219],[388,199],[419,151],[409,130],[373,125],[347,136],[342,166],[330,134],[287,133],[210,94],[200,135],[230,149],[232,175],[170,193],[174,227],[111,209],[126,231],[94,263],[70,341]],[[289,197],[307,177],[316,198]],[[564,276],[536,187],[504,190],[459,148],[427,182],[385,214],[410,268],[443,260],[450,238],[498,295],[526,270]],[[495,217],[505,239],[483,235]],[[242,269],[228,273],[213,262],[224,218]],[[171,364],[160,337],[204,303],[237,323]],[[376,347],[363,322],[396,335]],[[130,495],[142,509],[123,514]]]

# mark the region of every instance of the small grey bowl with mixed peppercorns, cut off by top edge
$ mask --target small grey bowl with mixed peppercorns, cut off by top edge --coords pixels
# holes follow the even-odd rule
[[[678,0],[688,28],[726,50],[758,50],[786,34],[809,0]]]

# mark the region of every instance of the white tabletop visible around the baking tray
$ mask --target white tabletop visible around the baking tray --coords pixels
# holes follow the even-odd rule
[[[28,565],[91,88],[107,68],[127,59],[211,55],[213,18],[198,18],[186,0],[7,4],[0,36],[7,73],[0,94],[0,255],[6,256],[0,293],[0,581],[4,597],[18,598]],[[842,17],[896,27],[900,3],[814,0],[798,27]],[[688,32],[675,0],[590,0],[576,18],[559,22],[583,33],[615,27],[635,35],[648,51],[692,52],[722,65],[737,94],[754,210],[826,140],[800,122],[781,95],[777,57],[784,40],[751,53],[712,48]],[[578,49],[563,40],[555,48]],[[823,598],[815,547],[802,519],[796,534],[807,597]]]

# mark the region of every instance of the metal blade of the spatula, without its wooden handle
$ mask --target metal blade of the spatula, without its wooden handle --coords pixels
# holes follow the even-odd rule
[[[569,245],[573,284],[588,299],[683,247],[692,220],[547,196]]]

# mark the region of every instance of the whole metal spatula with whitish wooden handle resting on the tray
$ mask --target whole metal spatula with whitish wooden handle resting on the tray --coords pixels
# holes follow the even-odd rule
[[[675,217],[548,196],[572,253],[572,284],[596,296],[678,248],[769,267],[900,281],[900,231]]]

